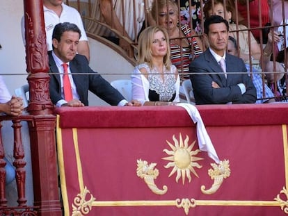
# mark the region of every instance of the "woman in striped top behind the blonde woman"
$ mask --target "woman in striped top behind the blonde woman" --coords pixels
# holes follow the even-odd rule
[[[178,69],[181,80],[189,79],[191,60],[202,53],[202,41],[187,24],[179,24],[179,8],[173,0],[158,0],[152,4],[152,17],[168,30],[171,62]],[[195,37],[193,37],[195,35]]]

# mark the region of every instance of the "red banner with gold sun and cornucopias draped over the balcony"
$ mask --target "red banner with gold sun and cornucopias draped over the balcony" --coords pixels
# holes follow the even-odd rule
[[[65,215],[287,215],[288,106],[198,110],[218,164],[183,108],[56,110]]]

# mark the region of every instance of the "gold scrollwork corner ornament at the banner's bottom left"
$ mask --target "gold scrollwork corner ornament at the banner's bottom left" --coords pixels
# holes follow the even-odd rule
[[[72,204],[72,216],[87,215],[90,212],[95,198],[90,194],[90,199],[86,201],[87,194],[90,194],[90,191],[85,186],[84,190],[74,198],[74,204]]]

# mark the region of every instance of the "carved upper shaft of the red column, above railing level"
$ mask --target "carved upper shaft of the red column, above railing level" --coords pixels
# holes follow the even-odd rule
[[[32,115],[52,114],[49,94],[49,65],[42,0],[24,0],[26,65],[29,107]]]

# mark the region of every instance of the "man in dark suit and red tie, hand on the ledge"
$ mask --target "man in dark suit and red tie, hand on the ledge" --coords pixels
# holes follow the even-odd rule
[[[53,51],[49,51],[51,101],[58,107],[88,106],[90,90],[112,106],[141,106],[135,100],[128,102],[108,81],[93,72],[85,56],[77,54],[80,37],[81,31],[75,24],[65,22],[54,28]],[[69,77],[70,99],[65,97],[65,76]]]

